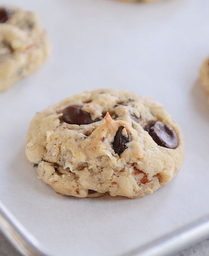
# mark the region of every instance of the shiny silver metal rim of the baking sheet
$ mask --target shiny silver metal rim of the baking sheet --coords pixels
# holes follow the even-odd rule
[[[0,230],[25,256],[49,256],[41,244],[20,224],[0,201]],[[198,242],[209,235],[209,215],[191,224],[137,247],[120,256],[166,256]],[[53,256],[53,255],[50,255]]]

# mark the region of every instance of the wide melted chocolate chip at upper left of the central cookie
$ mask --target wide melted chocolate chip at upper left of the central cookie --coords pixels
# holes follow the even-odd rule
[[[97,118],[95,120],[91,119],[90,113],[82,109],[83,105],[70,105],[62,111],[63,116],[61,119],[68,124],[91,124],[93,122],[98,122],[102,118]]]

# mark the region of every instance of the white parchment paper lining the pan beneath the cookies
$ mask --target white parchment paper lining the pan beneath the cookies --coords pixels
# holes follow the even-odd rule
[[[209,106],[198,76],[209,55],[209,2],[7,2],[36,10],[53,46],[38,71],[0,94],[0,200],[21,224],[52,255],[115,256],[208,214]],[[184,165],[152,195],[58,195],[26,160],[36,112],[100,87],[156,98],[183,131]]]

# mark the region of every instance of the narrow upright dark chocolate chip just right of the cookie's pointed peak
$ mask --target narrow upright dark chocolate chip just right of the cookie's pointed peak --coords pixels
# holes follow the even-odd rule
[[[131,135],[128,131],[127,131],[128,137],[123,136],[122,131],[124,128],[125,127],[123,125],[119,127],[113,142],[113,149],[115,151],[115,154],[118,154],[118,155],[123,153],[123,151],[127,148],[125,144],[131,141]]]

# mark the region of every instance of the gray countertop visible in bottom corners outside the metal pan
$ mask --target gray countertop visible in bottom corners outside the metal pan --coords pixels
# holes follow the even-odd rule
[[[209,238],[173,256],[208,256]],[[21,256],[0,233],[0,256]]]

